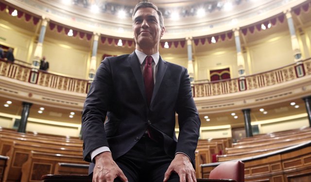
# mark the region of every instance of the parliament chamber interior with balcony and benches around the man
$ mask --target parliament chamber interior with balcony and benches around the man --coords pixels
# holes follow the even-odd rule
[[[0,1],[1,182],[87,175],[83,104],[101,61],[135,50],[139,1]],[[148,1],[161,57],[190,75],[196,177],[242,161],[241,182],[311,182],[311,0]]]

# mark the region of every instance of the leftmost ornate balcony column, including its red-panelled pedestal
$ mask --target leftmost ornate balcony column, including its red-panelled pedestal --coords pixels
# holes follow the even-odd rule
[[[30,83],[36,83],[37,79],[38,79],[38,70],[40,67],[40,60],[42,57],[42,45],[43,45],[43,40],[44,40],[44,36],[45,36],[45,31],[46,31],[46,28],[47,28],[49,21],[50,20],[48,18],[46,18],[45,16],[42,16],[40,35],[38,38],[37,46],[35,47],[33,64],[31,65],[32,71],[30,73],[31,75],[29,78]]]

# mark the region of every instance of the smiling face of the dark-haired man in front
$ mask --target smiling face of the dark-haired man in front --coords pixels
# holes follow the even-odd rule
[[[134,15],[134,39],[140,48],[155,47],[164,34],[159,16],[153,8],[139,8]]]

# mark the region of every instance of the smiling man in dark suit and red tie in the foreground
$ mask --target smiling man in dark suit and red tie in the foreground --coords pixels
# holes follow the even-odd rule
[[[93,182],[195,182],[201,122],[187,69],[160,57],[165,28],[154,4],[136,5],[133,30],[136,50],[105,58],[86,97],[83,153]]]

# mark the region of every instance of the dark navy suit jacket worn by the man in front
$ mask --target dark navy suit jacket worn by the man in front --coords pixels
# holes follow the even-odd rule
[[[165,152],[172,159],[175,152],[184,152],[195,166],[194,152],[201,122],[187,69],[160,57],[155,80],[148,106],[135,52],[102,61],[83,110],[84,160],[91,162],[90,152],[102,146],[110,148],[115,160],[128,152],[147,127],[151,127],[159,134]],[[175,113],[178,114],[178,141],[174,130]]]

